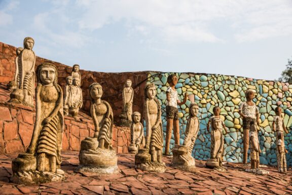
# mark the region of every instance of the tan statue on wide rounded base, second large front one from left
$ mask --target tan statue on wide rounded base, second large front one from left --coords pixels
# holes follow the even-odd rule
[[[102,87],[99,83],[89,86],[90,113],[94,122],[93,138],[81,142],[79,153],[80,166],[77,172],[90,175],[118,173],[118,157],[112,147],[114,116],[112,107],[101,100]]]

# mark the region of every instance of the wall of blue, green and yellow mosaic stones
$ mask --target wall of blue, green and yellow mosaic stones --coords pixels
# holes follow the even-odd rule
[[[157,97],[162,105],[162,122],[164,136],[166,132],[166,89],[167,77],[170,73],[149,74],[148,83],[154,83],[157,88]],[[292,124],[291,93],[292,85],[281,82],[249,79],[236,76],[225,76],[215,74],[194,74],[177,73],[178,83],[176,90],[180,100],[184,99],[183,93],[195,94],[195,102],[199,105],[200,131],[193,149],[193,156],[196,159],[206,160],[210,158],[210,133],[207,133],[208,118],[213,114],[213,107],[221,108],[221,115],[224,117],[227,132],[223,132],[225,137],[224,160],[232,163],[241,163],[243,157],[242,143],[242,120],[238,113],[239,105],[245,101],[244,91],[254,89],[257,91],[253,102],[260,111],[260,131],[259,140],[262,153],[260,154],[261,164],[277,165],[275,134],[272,131],[274,109],[279,105],[283,108],[284,124],[289,134],[285,135],[285,146],[288,149],[287,165],[292,165],[292,136],[290,126]],[[187,119],[189,117],[190,101],[186,105],[178,107],[180,123],[180,144],[184,141],[184,132]],[[291,127],[292,128],[292,127]],[[170,148],[174,147],[174,137],[172,135]]]

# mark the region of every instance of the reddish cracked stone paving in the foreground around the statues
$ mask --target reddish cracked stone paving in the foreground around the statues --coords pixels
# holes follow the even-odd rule
[[[227,173],[218,173],[196,160],[200,172],[193,174],[170,168],[171,158],[164,157],[167,171],[156,174],[135,170],[134,155],[119,154],[120,174],[86,177],[74,172],[78,153],[62,152],[65,181],[33,186],[9,183],[11,161],[17,154],[0,155],[0,194],[292,194],[292,172],[279,174],[271,167],[265,168],[270,172],[266,176],[246,173],[241,164],[228,164]]]

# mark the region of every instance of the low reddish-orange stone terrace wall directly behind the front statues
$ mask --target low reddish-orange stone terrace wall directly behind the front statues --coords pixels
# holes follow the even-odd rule
[[[24,152],[31,140],[35,111],[22,105],[7,104],[9,91],[0,85],[0,153]],[[94,134],[92,118],[79,112],[76,119],[64,117],[62,150],[80,150],[81,141]],[[128,153],[131,135],[128,127],[113,127],[113,148]]]

